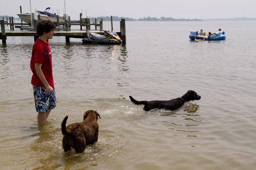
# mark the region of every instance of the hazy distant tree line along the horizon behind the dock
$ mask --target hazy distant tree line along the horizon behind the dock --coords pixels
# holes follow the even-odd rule
[[[90,18],[91,20],[95,20],[95,17]],[[111,17],[110,16],[99,16],[96,18],[97,20],[103,19],[104,21],[110,21]],[[126,21],[201,21],[201,19],[174,19],[171,17],[161,17],[161,18],[155,18],[155,17],[150,17],[148,16],[147,18],[139,18],[139,19],[134,19],[134,18],[127,18],[127,17],[118,17],[118,16],[112,16],[113,21],[120,21],[121,19],[125,19]]]

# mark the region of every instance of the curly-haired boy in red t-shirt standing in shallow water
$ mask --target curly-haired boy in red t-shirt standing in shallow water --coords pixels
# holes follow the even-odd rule
[[[33,45],[30,68],[33,73],[31,84],[38,112],[38,125],[44,125],[49,113],[56,107],[52,55],[47,42],[48,39],[52,39],[55,29],[56,26],[51,20],[40,20],[36,25],[36,34],[39,38]]]

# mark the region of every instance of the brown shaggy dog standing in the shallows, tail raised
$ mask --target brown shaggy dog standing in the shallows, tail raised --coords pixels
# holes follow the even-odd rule
[[[65,152],[73,148],[77,153],[81,153],[84,152],[86,144],[98,141],[98,117],[101,119],[97,111],[88,110],[84,113],[84,121],[72,123],[67,127],[68,116],[63,119],[61,132],[64,135],[62,144]]]

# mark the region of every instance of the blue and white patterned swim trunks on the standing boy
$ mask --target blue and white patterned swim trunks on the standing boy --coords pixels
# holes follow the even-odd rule
[[[34,86],[35,107],[37,112],[47,112],[56,107],[55,88],[53,93],[47,93],[46,88]]]

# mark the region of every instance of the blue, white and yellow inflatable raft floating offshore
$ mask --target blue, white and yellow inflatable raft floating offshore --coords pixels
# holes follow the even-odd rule
[[[225,32],[218,31],[216,32],[217,35],[211,35],[211,36],[203,36],[203,35],[199,35],[198,31],[190,31],[190,35],[189,38],[192,40],[195,40],[195,38],[197,40],[206,40],[206,41],[216,41],[216,40],[225,40],[226,36],[225,36]]]

